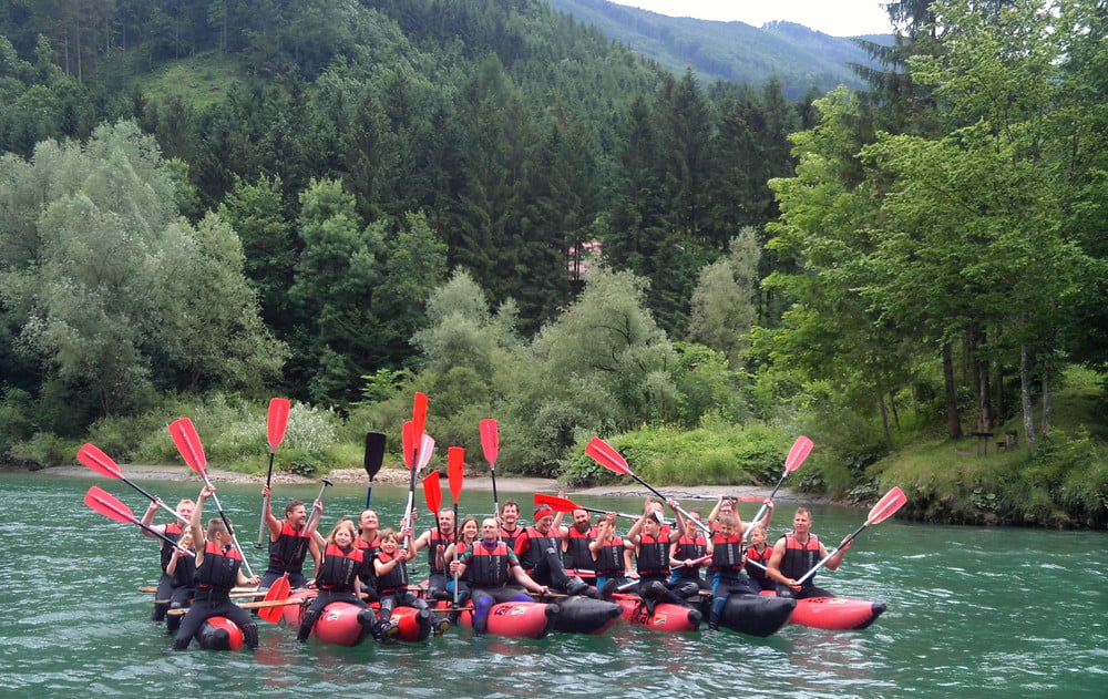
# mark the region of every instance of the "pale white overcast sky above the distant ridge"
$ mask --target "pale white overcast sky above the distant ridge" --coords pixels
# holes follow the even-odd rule
[[[694,17],[761,27],[787,20],[832,37],[892,32],[889,0],[612,0],[670,17]]]

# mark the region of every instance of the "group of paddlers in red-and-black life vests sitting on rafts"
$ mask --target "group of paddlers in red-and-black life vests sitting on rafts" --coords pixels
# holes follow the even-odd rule
[[[524,526],[519,503],[507,501],[496,516],[481,522],[466,516],[456,526],[453,510],[442,508],[435,513],[434,526],[418,536],[408,522],[381,531],[377,513],[365,510],[357,523],[342,517],[324,537],[317,531],[321,502],[312,504],[309,516],[305,503],[290,501],[285,517],[278,520],[269,506],[267,486],[263,495],[270,535],[268,566],[261,576],[247,577],[226,521],[216,517],[202,526],[204,503],[213,492],[205,486],[195,503],[183,500],[177,504],[176,512],[187,525],[153,525],[157,503],[151,503],[143,516],[151,532],[168,539],[162,545],[163,575],[153,618],[167,619],[175,649],[186,648],[212,616],[229,618],[243,630],[246,645],[256,648],[257,623],[232,602],[230,590],[257,585],[260,595],[286,575],[291,587],[318,590],[298,630],[301,641],[332,602],[360,607],[363,635],[371,634],[383,643],[397,633],[389,620],[397,606],[414,607],[428,631],[442,634],[456,623],[460,609],[471,604],[473,627],[480,634],[486,629],[494,604],[532,600],[529,592],[601,599],[611,599],[616,593],[637,594],[650,611],[660,602],[698,605],[701,595],[710,595],[709,628],[718,628],[731,594],[772,589],[797,598],[830,596],[813,584],[814,576],[798,582],[828,555],[811,533],[811,514],[797,510],[792,531],[770,545],[773,503],[768,498],[766,515],[749,526],[739,517],[736,501],[724,497],[707,518],[697,510],[681,510],[675,501],[664,505],[648,498],[625,535],[617,531],[616,513],[599,514],[594,522],[587,511],[578,508],[572,512],[571,524],[563,526],[564,513],[546,505],[538,506],[532,524]],[[666,505],[674,513],[674,524],[664,516]],[[848,548],[849,544],[840,548],[827,562],[828,568],[838,568]],[[420,596],[409,584],[408,564],[424,549],[429,576]],[[315,562],[310,579],[304,572],[309,554]],[[432,614],[428,600],[451,600],[448,616]],[[379,614],[370,607],[371,602],[379,603]],[[166,615],[168,609],[185,607],[184,616],[179,611]]]

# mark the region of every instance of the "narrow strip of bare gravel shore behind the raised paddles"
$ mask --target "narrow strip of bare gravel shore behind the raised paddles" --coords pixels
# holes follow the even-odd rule
[[[187,466],[156,466],[156,465],[125,465],[121,466],[124,475],[132,481],[195,481],[201,483],[201,476]],[[80,465],[53,466],[40,471],[9,471],[9,473],[38,473],[51,476],[85,477],[92,471]],[[219,469],[208,469],[208,479],[213,483],[257,483],[261,485],[266,482],[265,475],[253,475],[239,473],[237,471],[224,471]],[[362,469],[335,469],[327,474],[327,479],[336,484],[369,484],[366,471]],[[407,486],[410,473],[407,469],[381,469],[373,477],[375,485],[397,485]],[[274,473],[275,484],[309,484],[318,483],[319,477],[301,476],[295,473]],[[657,487],[657,486],[656,486]],[[474,491],[492,491],[492,479],[488,475],[466,474],[465,489]],[[571,495],[597,495],[607,497],[644,497],[649,495],[649,491],[637,484],[599,485],[587,489],[567,490],[554,479],[538,479],[529,476],[499,476],[496,479],[496,490],[505,493],[557,493],[566,492]],[[757,496],[769,495],[770,487],[756,485],[673,485],[659,487],[666,495],[676,497],[716,497],[717,495],[735,496]],[[781,489],[774,497],[777,502],[829,502],[827,497],[811,494],[797,494],[787,489]]]

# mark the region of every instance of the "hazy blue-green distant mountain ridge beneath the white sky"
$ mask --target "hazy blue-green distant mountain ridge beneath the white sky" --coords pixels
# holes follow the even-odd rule
[[[705,82],[760,85],[777,75],[786,95],[799,99],[811,88],[827,92],[840,84],[864,86],[850,63],[876,68],[851,39],[792,22],[771,22],[759,29],[745,22],[666,17],[607,0],[546,2],[675,73],[691,68]],[[861,38],[891,41],[891,35]]]

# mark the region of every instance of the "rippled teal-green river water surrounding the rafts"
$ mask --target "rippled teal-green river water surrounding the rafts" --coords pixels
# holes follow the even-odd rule
[[[137,592],[157,579],[157,542],[86,507],[90,485],[142,516],[147,501],[122,481],[91,472],[0,475],[8,507],[0,522],[2,697],[1108,697],[1108,534],[1100,532],[895,518],[869,527],[838,572],[819,576],[840,595],[888,603],[861,631],[790,625],[759,639],[706,627],[665,635],[620,620],[603,636],[527,640],[453,628],[424,644],[340,648],[316,639],[298,646],[290,627],[260,623],[257,652],[174,652],[164,627],[148,620],[153,595]],[[198,491],[192,483],[140,485],[171,503]],[[281,486],[275,502],[310,502],[317,493]],[[531,496],[500,492],[524,513]],[[320,530],[357,515],[365,497],[365,487],[329,489]],[[399,521],[407,497],[407,489],[375,486],[382,528]],[[422,494],[417,498],[422,506]],[[263,572],[253,544],[257,486],[220,486],[219,500]],[[576,500],[623,512],[642,502]],[[743,504],[749,517],[747,508],[756,507]],[[490,510],[491,493],[462,493],[462,513]],[[791,504],[780,510],[774,535],[791,520]],[[825,542],[866,517],[829,505],[812,513]],[[425,528],[430,515],[421,520]]]

